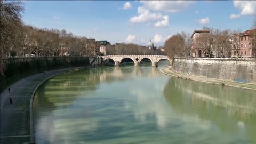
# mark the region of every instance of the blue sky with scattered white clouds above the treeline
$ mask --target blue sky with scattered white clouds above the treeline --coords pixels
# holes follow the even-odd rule
[[[23,1],[26,25],[66,29],[77,36],[155,46],[185,31],[249,30],[256,1]]]

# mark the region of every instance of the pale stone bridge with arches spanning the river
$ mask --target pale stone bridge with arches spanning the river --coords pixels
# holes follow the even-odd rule
[[[140,62],[142,59],[149,59],[152,62],[152,67],[157,67],[158,61],[166,59],[172,62],[166,55],[106,55],[101,56],[101,58],[105,61],[107,59],[112,59],[115,62],[115,66],[119,66],[121,61],[125,58],[130,58],[134,62],[134,66],[140,66]]]

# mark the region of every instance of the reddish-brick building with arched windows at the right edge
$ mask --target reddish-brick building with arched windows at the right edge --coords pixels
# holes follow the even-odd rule
[[[252,58],[256,57],[256,29],[246,30],[244,33],[232,35],[231,57]]]

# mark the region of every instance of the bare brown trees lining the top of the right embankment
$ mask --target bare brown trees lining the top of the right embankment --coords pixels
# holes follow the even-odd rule
[[[185,31],[172,35],[164,44],[166,54],[170,58],[189,57],[193,52],[192,48],[199,47],[202,51],[207,52],[207,57],[230,58],[232,50],[236,51],[237,57],[239,57],[241,42],[240,38],[234,37],[234,34],[241,33],[241,30],[221,30],[206,27],[203,29],[209,29],[210,33],[200,34],[194,39],[191,37],[192,34]],[[256,29],[256,17],[252,29]],[[249,39],[252,42],[252,47],[256,47],[256,30],[253,30]]]

